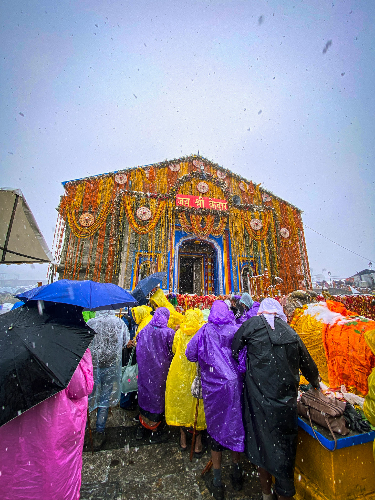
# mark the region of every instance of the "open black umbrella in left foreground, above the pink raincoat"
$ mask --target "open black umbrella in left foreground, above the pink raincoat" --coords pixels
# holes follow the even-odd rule
[[[82,309],[30,300],[0,316],[0,425],[67,387],[95,334]]]

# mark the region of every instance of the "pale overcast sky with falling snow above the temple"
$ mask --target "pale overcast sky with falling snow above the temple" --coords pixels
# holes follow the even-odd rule
[[[373,0],[1,4],[0,184],[49,247],[62,180],[199,149],[365,257],[305,228],[314,275],[375,263]]]

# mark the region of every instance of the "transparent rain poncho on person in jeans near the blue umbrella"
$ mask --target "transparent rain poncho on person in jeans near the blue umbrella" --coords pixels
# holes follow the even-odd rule
[[[90,344],[94,386],[88,397],[89,410],[115,406],[120,398],[122,347],[130,338],[129,330],[114,310],[96,311],[87,324],[96,335]]]

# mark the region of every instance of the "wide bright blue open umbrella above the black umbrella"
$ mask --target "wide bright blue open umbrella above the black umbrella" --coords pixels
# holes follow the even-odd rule
[[[63,304],[80,305],[83,310],[119,309],[127,305],[138,305],[137,301],[124,289],[113,283],[96,281],[75,281],[59,279],[51,284],[32,288],[16,295],[23,302],[47,300]]]

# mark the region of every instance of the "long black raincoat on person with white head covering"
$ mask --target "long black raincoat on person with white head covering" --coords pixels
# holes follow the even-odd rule
[[[232,355],[247,345],[243,425],[251,463],[279,479],[293,479],[297,444],[299,370],[318,386],[319,372],[297,333],[277,316],[272,330],[263,316],[244,321]]]

